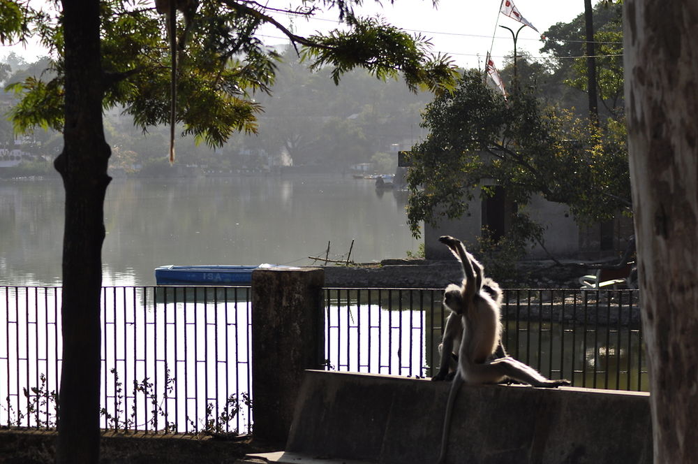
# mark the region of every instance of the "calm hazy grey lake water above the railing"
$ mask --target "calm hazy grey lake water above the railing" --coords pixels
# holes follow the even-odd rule
[[[114,179],[107,189],[105,285],[153,285],[168,264],[304,266],[405,257],[419,242],[406,194],[342,175]],[[0,180],[0,284],[61,282],[61,180]]]

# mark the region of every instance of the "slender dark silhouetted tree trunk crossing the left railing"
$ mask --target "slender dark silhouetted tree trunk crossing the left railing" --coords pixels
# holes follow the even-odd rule
[[[55,166],[66,190],[63,364],[57,463],[99,460],[100,293],[110,149],[102,126],[99,2],[63,1],[64,149]]]

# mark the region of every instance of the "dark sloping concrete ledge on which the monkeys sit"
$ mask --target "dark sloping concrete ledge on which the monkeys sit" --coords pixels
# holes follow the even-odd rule
[[[296,460],[288,462],[435,463],[449,389],[306,371],[285,449]],[[283,454],[255,458],[285,462]],[[447,463],[651,462],[648,393],[483,385],[463,386],[456,399]]]

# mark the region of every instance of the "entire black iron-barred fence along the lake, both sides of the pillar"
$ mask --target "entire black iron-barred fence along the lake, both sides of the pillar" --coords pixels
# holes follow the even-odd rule
[[[442,289],[325,289],[327,369],[430,377]],[[251,427],[249,287],[105,287],[102,426]],[[59,287],[0,287],[0,425],[55,423]],[[647,389],[637,291],[505,290],[510,355],[574,385]]]

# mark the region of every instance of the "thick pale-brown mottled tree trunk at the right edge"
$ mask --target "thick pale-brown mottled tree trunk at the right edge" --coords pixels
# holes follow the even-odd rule
[[[655,463],[698,456],[698,3],[625,0],[630,179]]]

